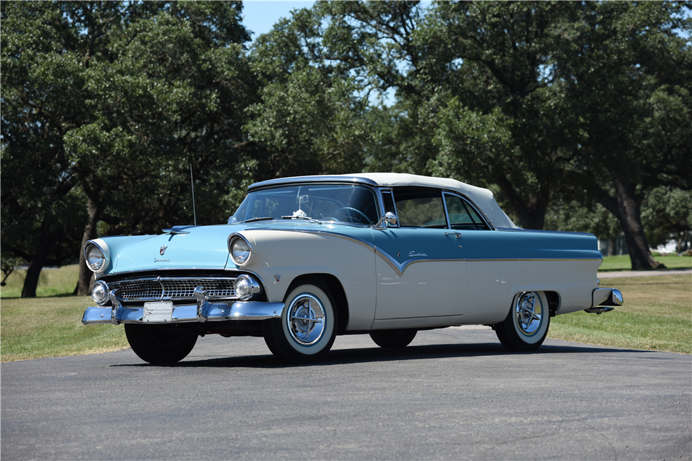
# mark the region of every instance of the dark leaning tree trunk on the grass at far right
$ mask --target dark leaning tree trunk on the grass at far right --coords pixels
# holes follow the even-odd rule
[[[640,200],[637,199],[636,185],[631,182],[624,182],[617,177],[613,178],[613,182],[618,211],[615,216],[620,221],[625,233],[632,270],[666,267],[651,256],[651,250],[648,241],[646,241],[646,235],[644,235],[644,225],[641,224]]]

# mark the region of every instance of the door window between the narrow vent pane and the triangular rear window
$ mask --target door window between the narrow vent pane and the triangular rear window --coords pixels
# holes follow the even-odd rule
[[[401,227],[447,227],[442,194],[430,189],[395,189]]]

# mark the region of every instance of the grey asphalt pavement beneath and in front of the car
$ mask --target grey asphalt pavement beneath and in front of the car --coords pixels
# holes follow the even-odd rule
[[[691,356],[555,339],[510,353],[482,327],[402,350],[338,337],[311,366],[211,336],[176,366],[127,349],[0,379],[3,461],[692,459]]]

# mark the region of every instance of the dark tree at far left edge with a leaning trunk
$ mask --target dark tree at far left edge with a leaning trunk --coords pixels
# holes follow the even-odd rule
[[[62,135],[85,114],[60,5],[6,1],[0,15],[2,251],[28,261],[22,297],[35,297],[42,267],[65,261],[61,244],[75,243],[71,229],[64,235],[76,223],[62,214],[75,186]]]

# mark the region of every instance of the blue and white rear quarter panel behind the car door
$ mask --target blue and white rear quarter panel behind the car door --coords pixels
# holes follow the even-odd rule
[[[603,261],[591,234],[466,231],[468,302],[465,322],[504,320],[523,291],[558,293],[558,314],[588,309]]]

